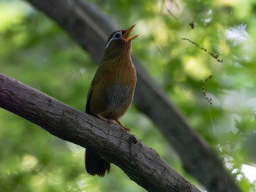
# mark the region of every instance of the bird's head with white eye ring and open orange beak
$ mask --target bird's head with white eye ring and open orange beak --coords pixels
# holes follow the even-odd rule
[[[105,46],[104,59],[115,58],[117,55],[127,54],[130,55],[132,46],[132,39],[138,37],[138,35],[129,37],[132,29],[135,25],[131,26],[127,30],[118,30],[113,32],[108,38]]]

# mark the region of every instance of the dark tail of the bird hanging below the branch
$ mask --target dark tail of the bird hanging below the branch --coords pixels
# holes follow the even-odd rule
[[[100,177],[104,177],[106,171],[110,172],[110,163],[102,159],[97,153],[94,153],[93,150],[86,149],[84,160],[86,171],[91,175],[97,174]]]

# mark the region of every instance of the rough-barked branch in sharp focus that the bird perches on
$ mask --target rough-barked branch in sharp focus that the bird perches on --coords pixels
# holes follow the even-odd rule
[[[0,74],[0,107],[56,137],[94,149],[148,191],[199,191],[128,131],[75,110],[4,74]]]

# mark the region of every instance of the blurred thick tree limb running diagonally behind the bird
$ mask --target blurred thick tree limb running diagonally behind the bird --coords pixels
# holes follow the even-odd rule
[[[27,1],[56,20],[95,61],[101,60],[102,47],[108,35],[116,30],[116,25],[97,7],[81,0]],[[138,71],[135,105],[165,134],[180,155],[187,172],[205,185],[208,191],[241,191],[214,150],[188,125],[135,56],[133,61]]]

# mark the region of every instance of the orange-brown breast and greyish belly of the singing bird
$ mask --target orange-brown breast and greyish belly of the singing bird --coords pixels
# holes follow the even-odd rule
[[[105,70],[91,98],[91,110],[104,118],[121,118],[132,103],[135,85],[133,65],[127,69],[113,66],[111,70]]]

